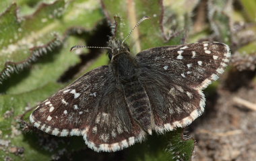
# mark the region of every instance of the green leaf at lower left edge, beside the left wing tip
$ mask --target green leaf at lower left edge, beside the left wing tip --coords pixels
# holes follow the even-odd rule
[[[30,147],[30,144],[23,141],[24,136],[18,129],[18,120],[15,119],[15,117],[24,113],[25,107],[34,107],[38,102],[42,101],[42,99],[46,99],[46,97],[49,97],[49,95],[55,93],[55,91],[60,87],[61,85],[58,85],[57,83],[51,83],[49,85],[45,85],[44,87],[38,88],[38,90],[36,91],[22,93],[22,95],[1,95],[0,129],[3,133],[1,140],[6,140],[10,143],[9,146],[4,146],[3,150],[0,150],[0,160],[3,160],[5,156],[10,156],[15,160],[20,160],[19,156],[15,156],[14,154],[8,154],[9,148],[13,146],[25,148],[25,160],[29,159],[31,155],[39,155],[40,158],[46,159],[45,157],[47,156],[47,154],[40,154],[38,152],[35,152],[35,150]],[[13,111],[13,115],[11,115],[10,117],[6,117],[5,113],[11,110]],[[14,134],[11,127],[18,130],[18,132],[15,132],[16,134]]]

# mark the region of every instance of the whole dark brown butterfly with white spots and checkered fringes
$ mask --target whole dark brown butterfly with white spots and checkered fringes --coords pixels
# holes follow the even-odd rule
[[[111,38],[110,64],[40,103],[31,123],[55,136],[83,136],[96,152],[122,150],[152,131],[191,124],[204,110],[202,90],[230,58],[229,47],[219,42],[161,46],[133,56],[124,41]]]

